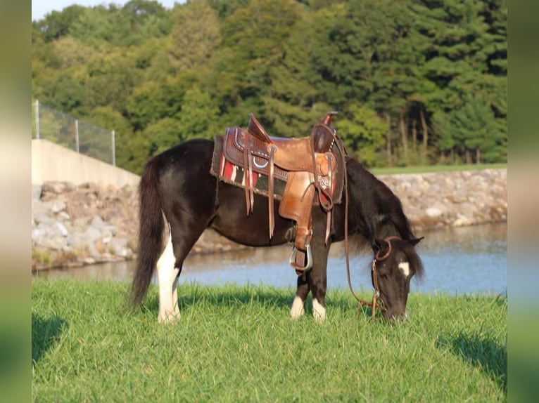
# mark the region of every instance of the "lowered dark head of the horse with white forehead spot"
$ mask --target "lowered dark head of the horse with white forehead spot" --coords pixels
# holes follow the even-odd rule
[[[408,240],[387,237],[376,239],[373,245],[372,284],[383,302],[385,319],[406,315],[410,280],[414,275],[419,278],[423,275],[421,259],[414,249],[421,239],[423,237]]]

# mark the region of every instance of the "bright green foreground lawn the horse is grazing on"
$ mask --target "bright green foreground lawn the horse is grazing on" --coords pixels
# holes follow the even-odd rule
[[[507,399],[505,297],[412,293],[410,319],[389,326],[332,291],[317,324],[288,317],[292,289],[191,285],[179,289],[179,323],[158,325],[156,287],[137,312],[128,289],[32,281],[34,401]]]

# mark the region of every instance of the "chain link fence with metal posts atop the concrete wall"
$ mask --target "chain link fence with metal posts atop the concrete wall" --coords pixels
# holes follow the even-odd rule
[[[108,164],[116,165],[115,133],[32,103],[32,138],[43,138]]]

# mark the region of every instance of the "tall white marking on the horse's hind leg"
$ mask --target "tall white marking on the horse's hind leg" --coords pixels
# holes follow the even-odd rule
[[[167,246],[157,261],[157,280],[159,283],[159,322],[173,322],[179,317],[177,307],[177,275],[179,270],[174,267],[176,258],[172,250],[172,235],[169,234]],[[174,298],[176,297],[176,300]]]

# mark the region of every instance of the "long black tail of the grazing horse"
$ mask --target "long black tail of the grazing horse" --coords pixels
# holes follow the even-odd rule
[[[153,270],[163,249],[162,207],[158,192],[160,159],[148,161],[139,185],[139,247],[133,276],[131,302],[135,308],[148,292]]]

